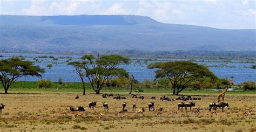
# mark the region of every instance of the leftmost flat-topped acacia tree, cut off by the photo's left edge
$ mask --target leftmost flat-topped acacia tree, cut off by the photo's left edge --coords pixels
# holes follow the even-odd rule
[[[42,77],[44,69],[33,65],[32,61],[23,61],[19,58],[0,60],[0,81],[2,82],[4,93],[8,93],[9,87],[19,78],[24,76]]]

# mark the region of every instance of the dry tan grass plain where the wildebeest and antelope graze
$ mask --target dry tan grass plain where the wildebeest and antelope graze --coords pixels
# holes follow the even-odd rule
[[[217,116],[211,117],[208,112],[208,104],[217,100],[216,95],[199,95],[201,100],[196,100],[196,107],[200,107],[199,116],[187,114],[180,110],[177,117],[169,115],[169,112],[177,109],[177,103],[182,101],[160,101],[164,93],[146,93],[144,96],[156,96],[157,99],[132,99],[132,96],[124,94],[126,100],[112,98],[103,99],[101,95],[79,95],[75,99],[76,92],[35,93],[35,94],[8,94],[0,95],[0,103],[5,104],[0,115],[1,131],[256,131],[256,95],[255,94],[228,94],[225,102],[230,108],[225,108],[222,113],[217,109]],[[166,94],[165,94],[166,95]],[[167,95],[174,99],[177,96]],[[193,95],[192,95],[193,97]],[[198,97],[198,96],[195,96]],[[95,110],[87,109],[89,102],[97,101]],[[109,112],[104,118],[98,120],[99,113],[103,112],[102,102],[109,103]],[[122,109],[122,103],[127,102],[128,113],[114,112]],[[164,108],[164,113],[157,116],[156,112],[148,112],[147,103],[155,102],[156,109]],[[132,112],[132,103],[137,103],[137,109],[145,107],[146,112],[136,114]],[[188,102],[188,101],[183,101]],[[69,106],[86,107],[80,118],[74,117],[69,111]],[[242,117],[242,110],[252,109],[247,117]],[[60,115],[60,110],[68,110],[66,116]],[[121,116],[126,115],[125,119]]]

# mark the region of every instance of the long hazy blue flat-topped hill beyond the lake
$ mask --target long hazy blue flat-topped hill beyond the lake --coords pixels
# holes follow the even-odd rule
[[[164,24],[132,15],[0,15],[0,50],[256,51],[256,30]]]

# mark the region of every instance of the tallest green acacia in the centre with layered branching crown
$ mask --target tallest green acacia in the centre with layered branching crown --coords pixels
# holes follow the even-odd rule
[[[79,66],[82,75],[89,80],[93,91],[99,94],[103,86],[113,77],[127,76],[123,68],[118,68],[119,64],[129,64],[129,58],[120,55],[84,55],[82,62],[71,62]]]

